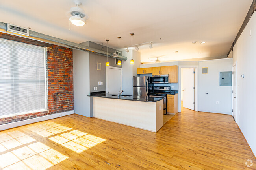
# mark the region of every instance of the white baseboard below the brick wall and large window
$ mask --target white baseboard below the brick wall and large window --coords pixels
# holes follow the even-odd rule
[[[32,124],[32,123],[35,123],[35,122],[41,122],[41,121],[46,121],[46,120],[49,120],[49,119],[62,117],[62,116],[72,115],[74,113],[75,113],[74,110],[70,110],[70,111],[67,111],[67,112],[61,112],[61,113],[55,113],[55,114],[52,114],[52,115],[45,115],[45,116],[41,116],[41,117],[35,117],[35,118],[27,119],[27,120],[24,120],[24,121],[1,124],[0,125],[0,131],[1,130],[6,130],[6,129],[11,129],[11,128],[16,128],[16,127],[23,126],[23,125],[26,125],[26,124]]]

